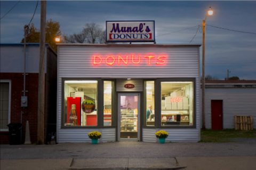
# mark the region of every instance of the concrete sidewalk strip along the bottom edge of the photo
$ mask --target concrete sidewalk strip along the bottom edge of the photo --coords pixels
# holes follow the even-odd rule
[[[82,158],[82,159],[2,159],[5,169],[225,169],[253,170],[256,157],[177,157],[177,158]]]

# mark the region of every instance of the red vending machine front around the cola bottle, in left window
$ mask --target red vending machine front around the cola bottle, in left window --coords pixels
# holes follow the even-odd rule
[[[76,113],[77,113],[77,126],[81,126],[81,98],[67,98],[67,123],[69,123],[69,114],[71,111],[71,105],[76,105]]]

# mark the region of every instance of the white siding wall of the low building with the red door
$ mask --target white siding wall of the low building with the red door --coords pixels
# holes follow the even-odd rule
[[[206,128],[212,128],[211,100],[223,100],[223,128],[235,128],[236,115],[253,116],[256,128],[256,88],[205,88]]]

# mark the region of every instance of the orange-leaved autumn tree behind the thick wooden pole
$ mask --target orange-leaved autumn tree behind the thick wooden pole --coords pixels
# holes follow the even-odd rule
[[[57,52],[55,38],[61,36],[60,22],[52,21],[52,19],[47,20],[45,34],[45,43],[49,43],[52,49]],[[31,23],[30,31],[26,36],[26,43],[39,43],[39,40],[40,30],[35,28],[34,23]],[[22,38],[21,43],[24,43],[24,38]]]

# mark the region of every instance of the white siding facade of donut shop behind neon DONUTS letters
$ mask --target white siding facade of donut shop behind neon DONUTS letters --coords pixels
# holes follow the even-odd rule
[[[131,64],[131,55],[134,55],[134,61],[141,55],[141,63]],[[93,65],[93,56],[102,57],[102,63]],[[114,56],[116,61],[112,66],[105,63],[107,56]],[[118,65],[118,55],[129,55],[127,65]],[[155,55],[151,59],[151,65],[148,65],[148,58],[145,55]],[[160,55],[166,55],[166,63],[156,65],[156,59]],[[105,45],[59,45],[58,49],[58,99],[57,99],[57,137],[58,142],[83,141],[86,140],[84,134],[90,129],[61,129],[61,78],[196,78],[196,129],[172,129],[170,132],[179,132],[185,137],[176,136],[177,141],[186,141],[194,131],[195,140],[199,140],[199,45],[159,45],[159,44],[105,44]],[[105,129],[102,133],[105,133]],[[143,130],[144,131],[144,130]],[[168,130],[169,131],[169,130]],[[76,140],[68,140],[67,133],[73,133]],[[146,131],[145,131],[146,132]],[[113,134],[111,134],[113,133]],[[113,139],[114,131],[108,132]],[[104,134],[103,134],[104,135]],[[188,136],[186,138],[186,136]],[[150,138],[150,137],[149,137]],[[143,139],[147,136],[143,135]],[[103,139],[104,141],[104,139]]]

